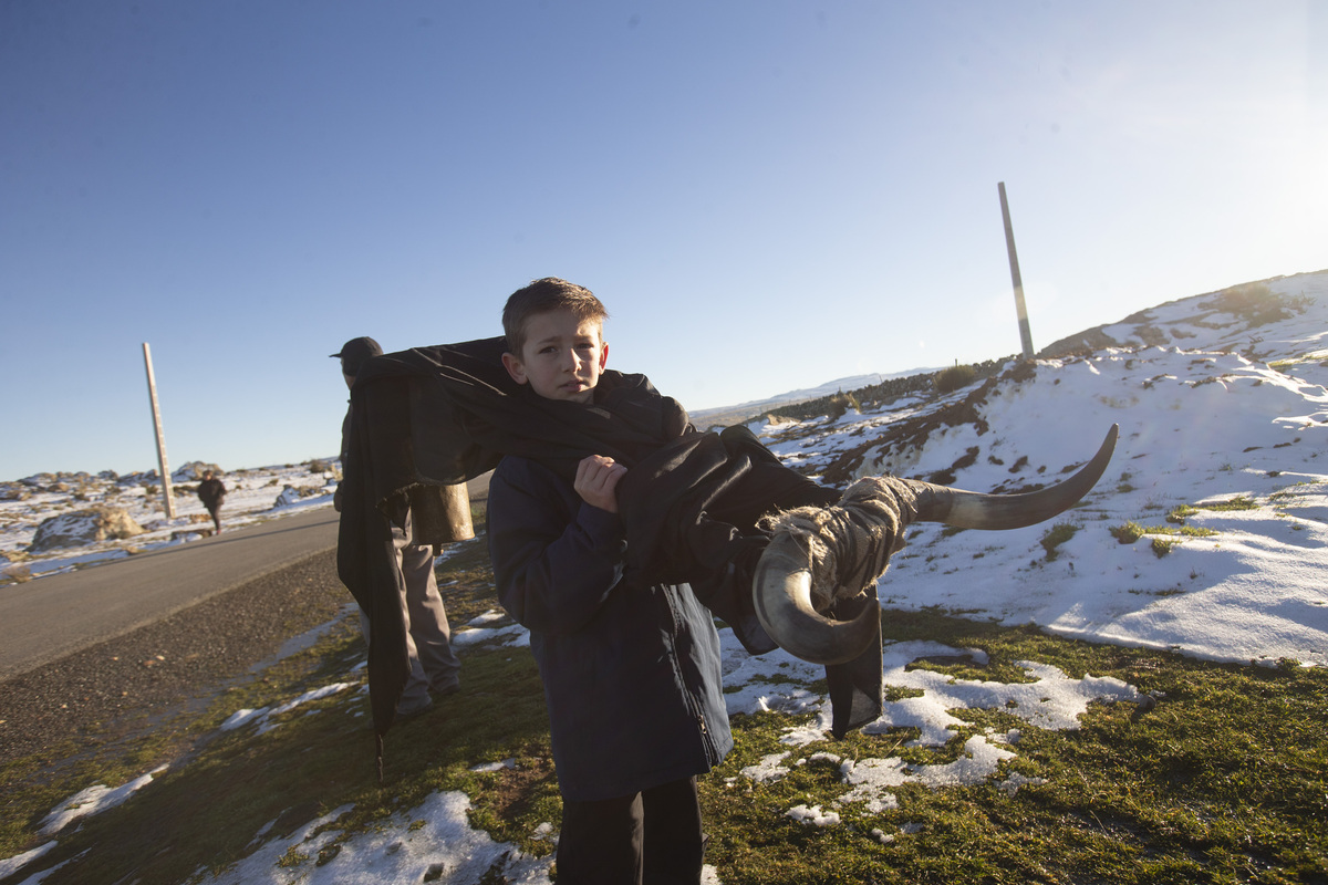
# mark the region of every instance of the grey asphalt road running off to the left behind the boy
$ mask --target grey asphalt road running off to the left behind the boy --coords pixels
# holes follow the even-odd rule
[[[331,507],[321,507],[3,588],[0,679],[331,549],[336,547],[339,519]]]

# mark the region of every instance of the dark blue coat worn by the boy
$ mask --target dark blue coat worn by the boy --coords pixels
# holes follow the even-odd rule
[[[507,456],[489,486],[489,549],[498,598],[530,629],[566,799],[700,775],[732,748],[712,616],[685,584],[625,568],[615,513]]]

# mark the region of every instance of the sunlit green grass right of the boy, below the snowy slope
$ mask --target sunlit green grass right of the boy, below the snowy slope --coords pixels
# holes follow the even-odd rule
[[[999,710],[961,710],[956,715],[972,727],[940,751],[894,750],[907,740],[903,732],[850,735],[793,751],[784,780],[738,779],[729,787],[724,778],[741,766],[788,750],[778,743],[786,719],[740,718],[738,743],[754,752],[703,783],[714,836],[708,860],[721,881],[1234,884],[1320,881],[1328,872],[1328,828],[1320,820],[1328,815],[1321,791],[1328,750],[1303,739],[1316,734],[1315,716],[1328,706],[1325,674],[1211,665],[1032,629],[892,613],[887,638],[919,636],[981,647],[992,667],[1037,659],[1072,677],[1116,677],[1158,703],[1142,715],[1131,705],[1093,705],[1077,731],[1032,728]],[[1278,705],[1287,706],[1274,714]],[[880,813],[835,804],[846,789],[835,766],[795,764],[818,750],[939,763],[955,756],[967,734],[1011,727],[1023,734],[1019,756],[997,779],[939,791],[904,785],[895,791],[899,807]],[[1283,752],[1282,742],[1295,746]],[[996,780],[1015,772],[1042,783],[1008,795]],[[843,823],[797,823],[785,816],[797,804],[835,811]],[[710,827],[713,820],[725,825]],[[892,840],[882,844],[872,831]]]

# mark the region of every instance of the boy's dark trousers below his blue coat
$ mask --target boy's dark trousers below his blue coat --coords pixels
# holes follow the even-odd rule
[[[558,885],[696,885],[705,835],[696,778],[600,801],[563,801]]]

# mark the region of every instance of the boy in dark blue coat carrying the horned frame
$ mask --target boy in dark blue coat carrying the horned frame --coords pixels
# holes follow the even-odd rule
[[[588,409],[608,358],[588,291],[544,279],[503,310],[503,366],[566,409]],[[489,486],[489,549],[503,608],[530,629],[563,795],[558,881],[697,882],[696,776],[733,746],[720,641],[687,584],[627,567],[618,487],[590,455],[575,478],[503,458]]]

